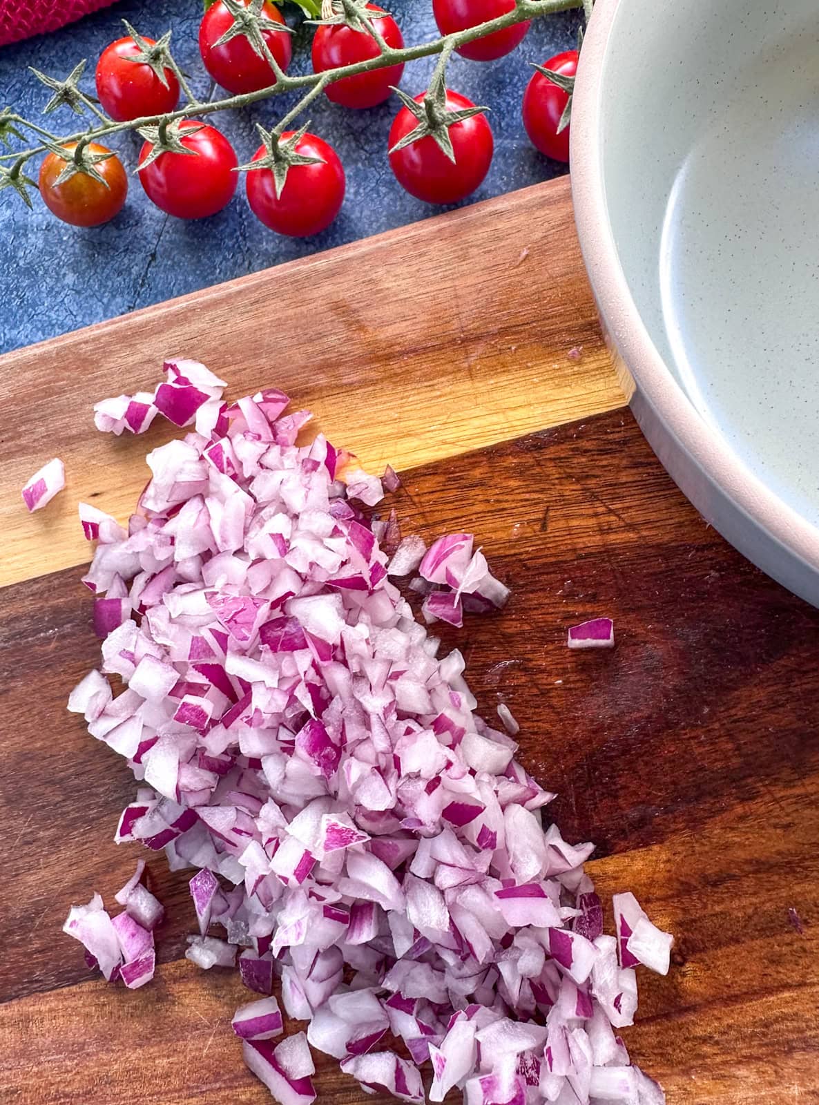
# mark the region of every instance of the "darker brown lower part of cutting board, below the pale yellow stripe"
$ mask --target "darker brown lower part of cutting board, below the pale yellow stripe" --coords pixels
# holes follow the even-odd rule
[[[601,891],[633,890],[676,934],[668,978],[641,976],[634,1061],[670,1105],[819,1103],[819,612],[702,522],[627,411],[413,470],[397,506],[405,532],[474,529],[512,586],[448,643],[484,713],[521,722],[567,839],[598,843]],[[63,709],[97,650],[78,575],[3,591],[0,1101],[262,1105],[228,1025],[235,980],[179,961],[192,911],[164,860],[177,917],[155,985],[91,980],[59,934],[137,855],[112,842],[127,770]],[[566,627],[596,613],[617,648],[569,652]],[[361,1101],[334,1064],[318,1088]]]

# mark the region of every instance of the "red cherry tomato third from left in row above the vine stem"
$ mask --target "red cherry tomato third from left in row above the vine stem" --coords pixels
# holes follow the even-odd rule
[[[367,8],[370,11],[384,10],[374,3],[368,3]],[[403,35],[391,15],[375,20],[374,27],[388,46],[393,50],[403,48]],[[378,53],[378,44],[366,31],[355,31],[346,23],[326,23],[317,28],[313,38],[313,72],[324,73],[328,69],[354,65],[377,57]],[[343,107],[375,107],[389,99],[390,85],[397,85],[402,73],[403,65],[389,65],[371,73],[345,76],[329,85],[327,98]]]

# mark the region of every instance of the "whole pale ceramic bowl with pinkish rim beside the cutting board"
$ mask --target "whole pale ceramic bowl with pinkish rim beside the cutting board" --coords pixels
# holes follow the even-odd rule
[[[817,0],[598,0],[571,186],[651,445],[708,522],[819,606]]]

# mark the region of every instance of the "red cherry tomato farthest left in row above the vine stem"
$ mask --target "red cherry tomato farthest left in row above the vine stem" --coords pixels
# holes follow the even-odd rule
[[[145,40],[149,46],[154,39]],[[139,48],[134,40],[117,39],[106,46],[96,64],[96,94],[99,103],[117,123],[137,119],[140,115],[164,115],[179,102],[179,82],[165,70],[166,88],[150,65],[128,61]]]

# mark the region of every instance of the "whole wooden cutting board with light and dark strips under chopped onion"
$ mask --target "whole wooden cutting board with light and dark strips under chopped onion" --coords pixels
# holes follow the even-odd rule
[[[676,935],[623,1032],[671,1105],[819,1102],[819,613],[707,527],[643,441],[554,181],[0,358],[3,1105],[269,1101],[230,1031],[246,991],[182,958],[183,874],[150,862],[171,920],[143,990],[97,981],[60,932],[138,854],[112,842],[127,769],[64,711],[98,651],[75,504],[127,515],[167,436],[96,434],[90,408],[176,354],[233,394],[283,387],[365,463],[391,460],[405,533],[474,530],[511,585],[451,643],[482,709],[521,722],[567,839],[597,842],[601,893],[633,890]],[[29,516],[19,488],[53,455],[67,491]],[[617,648],[569,652],[594,614]],[[318,1088],[363,1096],[334,1062]]]

